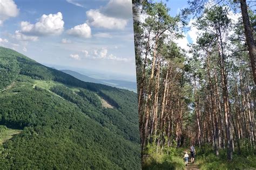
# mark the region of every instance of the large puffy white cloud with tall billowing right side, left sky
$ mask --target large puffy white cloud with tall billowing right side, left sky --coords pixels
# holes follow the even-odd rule
[[[59,35],[64,30],[64,21],[61,12],[43,15],[35,24],[21,22],[21,32],[32,36]]]

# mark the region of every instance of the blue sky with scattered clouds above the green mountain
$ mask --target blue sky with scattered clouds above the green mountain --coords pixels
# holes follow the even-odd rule
[[[0,46],[136,80],[131,0],[0,0]]]

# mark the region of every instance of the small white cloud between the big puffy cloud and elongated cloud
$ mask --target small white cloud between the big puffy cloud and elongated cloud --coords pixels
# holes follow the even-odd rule
[[[86,23],[82,25],[77,25],[72,29],[66,31],[71,36],[82,37],[82,38],[90,38],[91,37],[91,28]]]

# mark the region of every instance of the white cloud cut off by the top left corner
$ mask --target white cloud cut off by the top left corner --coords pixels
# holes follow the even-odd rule
[[[13,0],[0,0],[0,26],[10,17],[17,17],[19,9]]]

